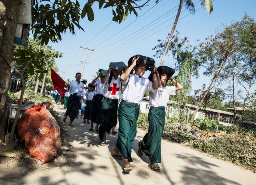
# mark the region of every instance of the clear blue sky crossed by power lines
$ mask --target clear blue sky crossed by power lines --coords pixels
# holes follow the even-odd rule
[[[83,7],[85,1],[83,0],[79,2],[80,5],[82,5]],[[153,54],[155,54],[155,52],[152,51],[152,48],[154,48],[154,46],[158,44],[158,39],[166,39],[167,34],[172,29],[172,25],[161,31],[158,30],[174,22],[176,11],[172,11],[173,13],[171,15],[167,16],[162,20],[160,18],[157,21],[153,22],[142,33],[140,32],[143,31],[145,28],[141,28],[154,21],[161,15],[165,14],[172,8],[176,7],[179,2],[179,0],[162,0],[158,5],[156,5],[145,15],[141,16],[139,19],[137,19],[137,21],[135,21],[133,24],[131,24],[129,27],[127,27],[118,34],[116,33],[125,28],[134,20],[136,20],[136,16],[134,14],[129,15],[125,21],[121,22],[121,24],[111,22],[97,37],[91,40],[101,29],[103,29],[112,20],[112,9],[105,8],[99,10],[98,3],[95,2],[92,7],[94,10],[94,21],[89,22],[86,17],[80,21],[80,25],[84,28],[85,32],[79,29],[76,29],[76,35],[72,35],[70,34],[70,32],[66,32],[66,34],[62,34],[62,41],[59,41],[58,43],[49,43],[49,45],[53,46],[53,49],[64,53],[62,58],[56,59],[56,63],[59,67],[59,74],[62,76],[62,71],[67,72],[67,74],[64,75],[64,79],[74,79],[75,73],[82,71],[82,62],[80,61],[84,60],[85,50],[80,49],[80,45],[82,45],[83,47],[94,49],[94,52],[88,52],[86,62],[88,62],[89,64],[85,64],[84,69],[83,78],[87,79],[88,82],[91,81],[91,75],[94,75],[95,71],[97,71],[98,69],[108,69],[109,62],[123,61],[126,63],[131,56],[134,56],[136,54],[154,58]],[[193,2],[196,3],[197,1],[194,0]],[[145,13],[153,5],[155,5],[155,0],[151,0],[151,2],[148,3],[147,7],[143,7],[141,8],[141,10],[137,10],[138,17]],[[197,39],[204,40],[208,35],[214,35],[216,28],[220,27],[221,24],[228,25],[233,20],[240,21],[241,18],[244,16],[245,12],[255,18],[255,7],[255,0],[215,0],[213,2],[213,13],[208,16],[208,12],[205,12],[204,9],[201,8],[200,3],[197,3],[195,5],[195,9],[201,9],[198,10],[195,15],[188,15],[189,12],[187,10],[182,12],[180,18],[185,15],[188,16],[179,20],[176,29],[180,32],[180,37],[187,36],[190,44],[194,45],[197,44]],[[185,7],[183,7],[183,10],[184,9]],[[176,8],[174,10],[176,10]],[[159,25],[161,23],[163,24]],[[154,27],[157,28],[153,29]],[[133,34],[126,39],[123,39],[131,33],[140,29],[141,31],[138,31],[136,34]],[[153,30],[150,31],[151,29]],[[155,34],[151,35],[153,33]],[[114,36],[108,41],[97,45],[108,39],[112,35]],[[147,39],[144,39],[147,36],[149,37]],[[120,39],[123,40],[117,42]],[[131,42],[133,39],[136,40]],[[144,40],[140,41],[141,39]],[[89,40],[91,41],[88,42]],[[108,46],[110,44],[113,45]],[[132,46],[128,47],[130,45]],[[156,61],[156,66],[158,66],[161,59],[154,59]],[[172,56],[165,58],[164,65],[174,67],[174,63],[175,61],[172,59]],[[210,82],[210,79],[203,76],[202,72],[203,69],[200,70],[199,79],[192,79],[193,91],[196,89],[200,89],[203,83],[208,85]],[[147,76],[148,72],[145,74],[145,77]],[[252,92],[254,91],[254,89],[256,89],[255,86],[253,87]]]

